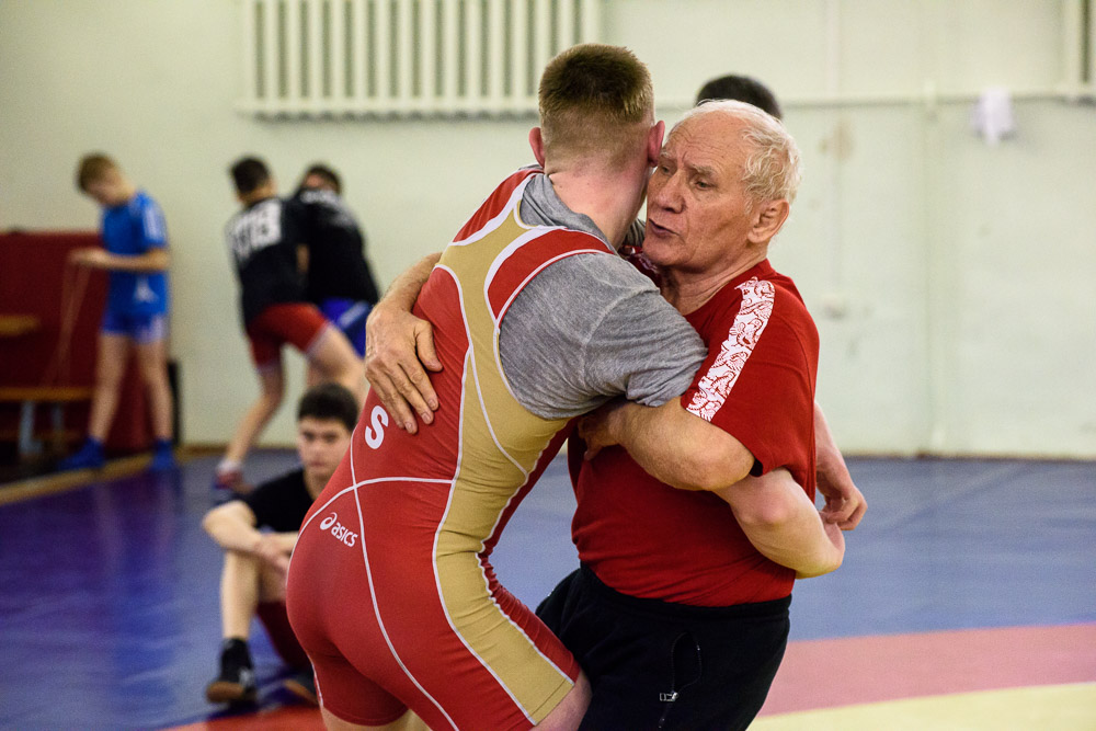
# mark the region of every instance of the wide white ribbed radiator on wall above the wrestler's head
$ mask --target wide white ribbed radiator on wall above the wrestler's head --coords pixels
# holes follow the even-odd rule
[[[545,64],[596,41],[601,0],[242,0],[259,116],[504,116]]]

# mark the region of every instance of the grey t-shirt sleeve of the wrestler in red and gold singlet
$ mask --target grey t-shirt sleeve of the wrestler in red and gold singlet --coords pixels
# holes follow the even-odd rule
[[[499,349],[514,396],[546,419],[617,396],[665,403],[707,353],[654,284],[610,254],[567,256],[538,273],[506,311]]]

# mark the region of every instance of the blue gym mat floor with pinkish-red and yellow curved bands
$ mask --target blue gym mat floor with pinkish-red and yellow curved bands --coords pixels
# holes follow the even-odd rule
[[[256,453],[249,479],[294,460]],[[322,728],[281,689],[258,625],[258,708],[205,700],[219,646],[220,553],[199,526],[214,462],[0,486],[0,728]],[[797,583],[788,653],[752,728],[1096,729],[1096,465],[849,467],[867,517],[836,573]],[[573,504],[557,459],[495,551],[527,604],[576,566]]]

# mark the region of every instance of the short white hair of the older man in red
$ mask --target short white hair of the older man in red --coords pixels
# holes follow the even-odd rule
[[[686,112],[670,134],[688,119],[708,114],[726,114],[743,123],[742,140],[750,149],[742,183],[752,204],[780,199],[790,204],[796,199],[802,180],[799,146],[779,119],[745,102],[708,101]]]

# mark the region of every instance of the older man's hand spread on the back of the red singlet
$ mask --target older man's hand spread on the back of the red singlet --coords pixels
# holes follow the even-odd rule
[[[437,395],[426,369],[438,372],[433,327],[426,320],[384,301],[365,321],[365,377],[396,424],[410,434],[434,421]]]

